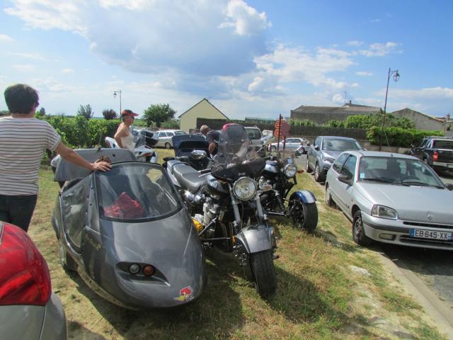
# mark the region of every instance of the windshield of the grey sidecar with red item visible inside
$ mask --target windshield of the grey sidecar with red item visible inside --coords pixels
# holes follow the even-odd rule
[[[153,220],[179,211],[175,188],[161,166],[143,162],[112,164],[96,172],[99,215],[105,220]]]

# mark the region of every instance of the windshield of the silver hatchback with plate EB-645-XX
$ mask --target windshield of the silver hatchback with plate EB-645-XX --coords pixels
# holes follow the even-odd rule
[[[434,171],[419,159],[396,157],[362,157],[359,181],[444,188]]]

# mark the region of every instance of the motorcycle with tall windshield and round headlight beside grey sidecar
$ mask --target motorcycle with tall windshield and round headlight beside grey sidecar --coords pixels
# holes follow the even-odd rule
[[[173,142],[176,154],[181,145]],[[256,155],[243,126],[235,123],[222,128],[217,155],[210,159],[208,169],[191,166],[197,160],[193,155],[199,157],[200,151],[205,152],[193,149],[188,159],[167,159],[164,167],[193,217],[205,249],[215,246],[233,253],[257,293],[267,297],[277,285],[273,263],[277,245],[254,180],[265,168],[265,160]]]

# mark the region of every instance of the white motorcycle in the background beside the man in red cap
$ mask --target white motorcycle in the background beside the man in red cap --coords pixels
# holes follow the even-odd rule
[[[130,133],[135,143],[134,155],[137,161],[157,163],[159,154],[152,147],[159,142],[159,138],[153,137],[154,134],[151,131],[136,130],[132,126],[130,127]],[[105,144],[112,148],[120,147],[112,137],[105,137]]]

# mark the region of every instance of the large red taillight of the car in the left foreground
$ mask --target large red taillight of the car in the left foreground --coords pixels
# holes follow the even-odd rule
[[[46,305],[52,293],[47,263],[28,234],[0,222],[0,305]]]

